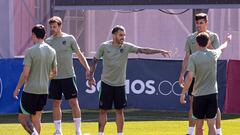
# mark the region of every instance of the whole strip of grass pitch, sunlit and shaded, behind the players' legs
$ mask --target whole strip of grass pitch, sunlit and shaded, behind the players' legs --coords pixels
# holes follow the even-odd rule
[[[109,113],[109,122],[105,127],[105,135],[116,134],[114,112]],[[95,110],[82,111],[82,131],[90,135],[97,134],[97,117]],[[222,120],[223,134],[239,135],[240,115],[224,114]],[[187,114],[182,112],[164,112],[149,110],[128,110],[125,112],[125,135],[184,135],[187,131]],[[54,132],[51,113],[44,113],[42,118],[42,135],[51,135]],[[75,127],[72,123],[71,113],[63,114],[64,135],[74,135]],[[204,132],[207,134],[206,122]],[[0,115],[0,135],[26,135],[20,124],[17,123],[17,115]]]

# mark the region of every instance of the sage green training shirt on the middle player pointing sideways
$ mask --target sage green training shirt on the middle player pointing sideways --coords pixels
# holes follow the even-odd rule
[[[137,53],[137,46],[124,42],[121,47],[106,41],[99,47],[96,58],[103,59],[101,81],[111,86],[124,86],[129,53]]]

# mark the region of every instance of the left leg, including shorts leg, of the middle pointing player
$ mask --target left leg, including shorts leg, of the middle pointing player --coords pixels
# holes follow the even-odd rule
[[[107,123],[107,112],[112,109],[114,87],[104,82],[101,82],[99,91],[99,120],[98,120],[98,134],[104,134],[104,128]]]

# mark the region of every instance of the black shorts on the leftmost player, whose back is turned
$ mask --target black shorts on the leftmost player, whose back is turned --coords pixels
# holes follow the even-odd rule
[[[22,93],[19,113],[35,115],[37,111],[42,111],[47,102],[47,94]]]

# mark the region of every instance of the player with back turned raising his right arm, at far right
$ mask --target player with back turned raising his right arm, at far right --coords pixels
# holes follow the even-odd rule
[[[208,134],[216,135],[217,101],[217,59],[228,46],[232,36],[228,35],[226,41],[217,49],[208,49],[210,37],[207,32],[196,36],[198,51],[189,57],[187,77],[183,87],[180,102],[186,103],[187,93],[193,77],[195,77],[193,95],[193,117],[196,118],[196,135],[203,135],[203,122],[207,120]]]

